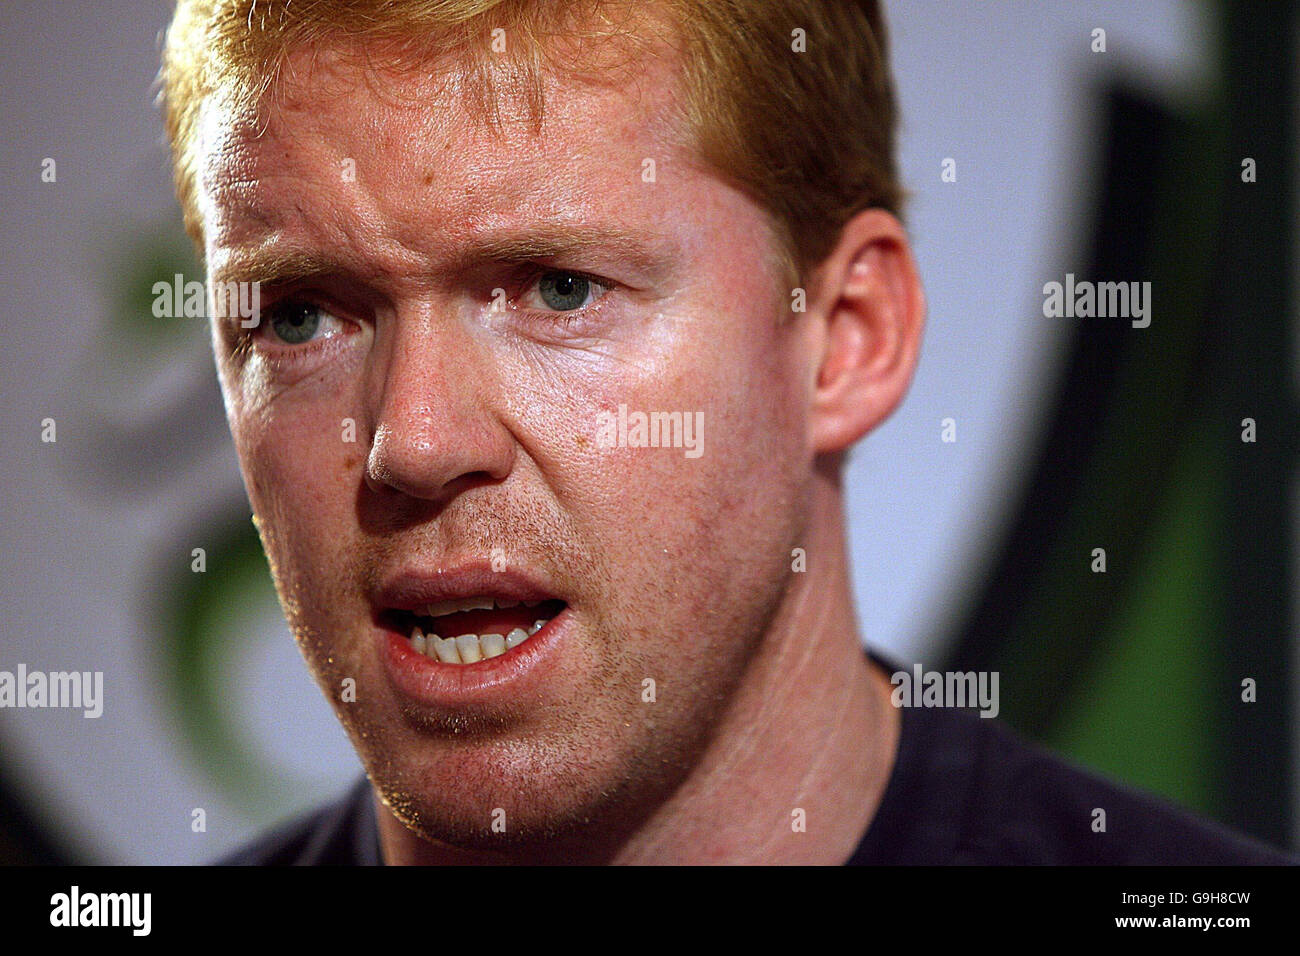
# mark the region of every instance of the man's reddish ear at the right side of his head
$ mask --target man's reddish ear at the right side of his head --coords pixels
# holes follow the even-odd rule
[[[809,312],[820,333],[811,442],[832,454],[889,416],[916,367],[926,295],[893,215],[864,209],[849,220],[816,269]]]

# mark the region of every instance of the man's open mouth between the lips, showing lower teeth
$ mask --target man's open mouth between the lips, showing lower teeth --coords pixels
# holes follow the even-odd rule
[[[381,617],[390,630],[407,635],[411,646],[425,657],[465,665],[517,648],[566,606],[559,600],[512,601],[484,594],[415,610],[391,609]]]

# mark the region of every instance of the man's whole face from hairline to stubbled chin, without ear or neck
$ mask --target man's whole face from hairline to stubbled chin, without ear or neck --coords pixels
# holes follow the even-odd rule
[[[295,637],[398,817],[462,845],[615,839],[684,779],[783,600],[809,339],[759,207],[672,144],[671,60],[549,75],[537,135],[510,99],[480,122],[450,66],[299,56],[261,135],[209,111],[211,278],[306,273],[263,285],[257,328],[214,321],[226,408]],[[702,412],[702,454],[610,447],[620,406]],[[417,654],[425,605],[474,596],[552,604],[437,630],[550,622],[477,663]]]

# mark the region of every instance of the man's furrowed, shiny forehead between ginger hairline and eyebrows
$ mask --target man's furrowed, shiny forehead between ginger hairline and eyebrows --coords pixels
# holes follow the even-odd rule
[[[429,254],[526,221],[616,215],[651,229],[666,191],[694,191],[696,215],[716,202],[692,179],[677,59],[663,44],[607,74],[543,68],[540,122],[506,64],[485,98],[454,55],[398,69],[360,52],[294,52],[261,116],[205,108],[209,254],[289,235]]]

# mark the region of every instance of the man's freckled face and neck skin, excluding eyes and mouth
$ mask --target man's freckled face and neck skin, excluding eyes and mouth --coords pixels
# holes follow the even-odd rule
[[[213,343],[286,615],[389,808],[386,858],[842,856],[893,717],[857,652],[838,499],[816,467],[818,333],[789,312],[764,213],[671,144],[670,61],[636,88],[549,75],[540,135],[517,109],[499,134],[477,122],[438,64],[384,78],[416,105],[358,69],[299,57],[260,137],[212,112],[202,202],[214,273],[274,239],[364,277],[339,293],[348,333],[291,369],[220,329]],[[493,313],[491,289],[447,268],[478,230],[558,220],[677,251],[653,281],[616,255],[559,263],[619,284],[575,326]],[[602,447],[598,415],[620,403],[702,411],[705,454]],[[551,583],[578,639],[536,698],[415,719],[374,653],[368,589],[415,558],[494,548]],[[810,574],[792,574],[794,548]],[[786,851],[793,801],[823,829]]]

